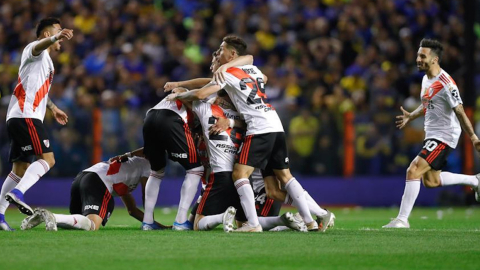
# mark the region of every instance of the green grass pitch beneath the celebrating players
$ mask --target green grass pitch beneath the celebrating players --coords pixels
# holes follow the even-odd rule
[[[9,209],[18,230],[0,231],[0,269],[480,269],[480,208],[415,208],[402,230],[381,229],[397,209],[332,210],[326,233],[226,234],[143,232],[123,208],[98,232],[20,231],[24,216]]]

